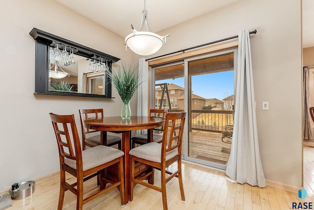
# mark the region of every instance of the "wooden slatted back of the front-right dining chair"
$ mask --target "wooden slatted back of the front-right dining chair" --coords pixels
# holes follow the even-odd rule
[[[165,126],[162,137],[161,161],[165,161],[166,153],[177,149],[182,154],[183,128],[185,112],[169,112],[165,115]],[[170,130],[170,131],[169,131]]]

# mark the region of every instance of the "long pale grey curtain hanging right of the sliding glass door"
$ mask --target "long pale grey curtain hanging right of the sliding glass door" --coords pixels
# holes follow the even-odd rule
[[[226,175],[237,183],[265,187],[260,157],[249,30],[239,32],[235,70],[235,122]]]

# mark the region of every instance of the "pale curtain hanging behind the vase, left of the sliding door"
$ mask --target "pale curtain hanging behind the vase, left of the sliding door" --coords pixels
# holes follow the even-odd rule
[[[148,115],[148,62],[145,58],[138,60],[138,74],[141,79],[141,85],[137,89],[137,115]],[[144,130],[137,131],[137,135],[144,134]]]

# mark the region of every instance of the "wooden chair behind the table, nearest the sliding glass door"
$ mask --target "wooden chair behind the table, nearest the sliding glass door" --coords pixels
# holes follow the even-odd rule
[[[165,113],[169,112],[169,109],[150,109],[150,115],[154,117],[165,117]],[[155,128],[153,133],[153,141],[161,143],[162,141],[163,126],[161,128]],[[131,138],[132,148],[135,144],[143,145],[149,143],[147,134],[136,135]]]

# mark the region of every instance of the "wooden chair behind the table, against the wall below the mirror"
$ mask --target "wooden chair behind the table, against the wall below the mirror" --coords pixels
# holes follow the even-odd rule
[[[98,119],[98,118],[103,118],[104,117],[104,109],[98,108],[98,109],[79,109],[79,119],[80,119],[80,126],[82,130],[82,148],[83,150],[86,149],[86,146],[88,147],[95,147],[98,145],[101,145],[101,136],[100,134],[98,135],[93,135],[90,137],[87,137],[89,133],[94,133],[94,132],[100,132],[100,131],[95,131],[88,129],[84,126],[84,120],[87,119]],[[107,142],[106,145],[108,147],[111,147],[113,145],[118,145],[118,149],[121,150],[121,137],[116,136],[116,135],[109,135],[107,134]]]

